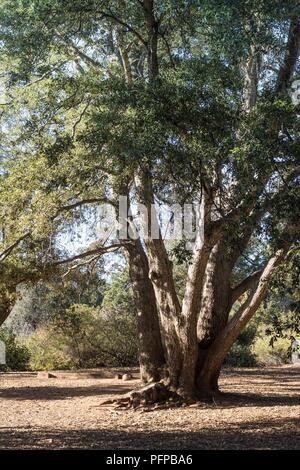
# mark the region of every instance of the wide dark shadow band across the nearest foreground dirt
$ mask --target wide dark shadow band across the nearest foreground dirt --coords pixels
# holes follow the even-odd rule
[[[194,432],[126,432],[113,429],[2,428],[2,449],[297,449],[296,419],[254,421],[236,428]]]

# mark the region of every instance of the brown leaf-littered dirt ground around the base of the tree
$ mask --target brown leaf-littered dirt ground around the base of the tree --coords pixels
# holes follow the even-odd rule
[[[137,374],[0,374],[0,449],[296,449],[299,376],[296,366],[226,370],[213,405],[141,412],[99,406],[138,386]]]

